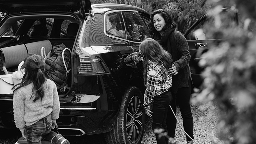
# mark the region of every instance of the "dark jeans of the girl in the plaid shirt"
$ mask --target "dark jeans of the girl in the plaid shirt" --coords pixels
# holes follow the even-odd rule
[[[152,128],[163,129],[165,133],[168,133],[166,126],[166,117],[168,106],[172,101],[172,95],[170,90],[154,97],[153,102],[153,122]],[[162,136],[159,133],[155,133],[157,144],[168,144],[168,136]]]

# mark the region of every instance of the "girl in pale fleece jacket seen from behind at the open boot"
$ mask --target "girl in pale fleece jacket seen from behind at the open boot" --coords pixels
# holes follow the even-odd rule
[[[35,54],[29,54],[22,68],[25,74],[21,83],[13,87],[13,110],[16,127],[28,144],[41,144],[43,138],[55,144],[70,144],[57,128],[59,98],[56,85],[44,75],[45,61]]]

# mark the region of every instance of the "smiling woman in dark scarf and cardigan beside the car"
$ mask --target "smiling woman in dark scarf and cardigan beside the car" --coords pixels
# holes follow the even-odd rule
[[[193,116],[190,108],[190,96],[193,89],[192,78],[188,62],[190,53],[188,43],[183,34],[175,30],[176,24],[172,17],[163,9],[155,10],[151,14],[149,30],[153,34],[153,39],[167,50],[173,58],[173,64],[169,67],[169,73],[173,75],[173,86],[171,92],[173,101],[171,107],[176,113],[176,104],[179,105],[183,126],[186,133],[193,137]],[[167,129],[171,144],[175,144],[176,119],[172,111],[168,110]],[[192,143],[192,139],[186,136],[187,144]]]

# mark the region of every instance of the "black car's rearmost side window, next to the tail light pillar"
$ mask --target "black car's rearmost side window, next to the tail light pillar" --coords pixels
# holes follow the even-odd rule
[[[126,39],[121,12],[110,13],[106,16],[106,33],[111,36]]]

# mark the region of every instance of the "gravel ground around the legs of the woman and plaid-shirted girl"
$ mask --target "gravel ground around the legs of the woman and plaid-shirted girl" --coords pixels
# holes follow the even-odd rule
[[[217,120],[218,113],[217,107],[208,103],[201,103],[198,105],[192,104],[191,111],[194,119],[194,140],[198,144],[223,144],[217,138]],[[178,121],[182,125],[183,122],[180,114],[180,109],[177,107],[176,116]],[[186,135],[181,129],[177,122],[175,131],[176,144],[186,144]],[[146,128],[144,131],[144,137],[142,139],[142,144],[156,144],[156,138],[152,132],[152,118],[146,116]],[[195,144],[195,142],[194,142]]]

